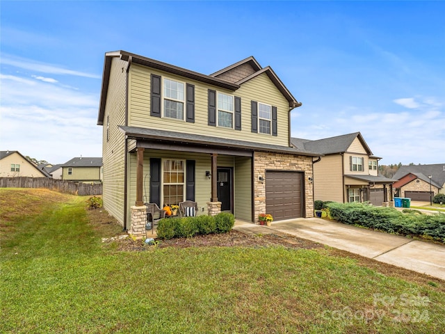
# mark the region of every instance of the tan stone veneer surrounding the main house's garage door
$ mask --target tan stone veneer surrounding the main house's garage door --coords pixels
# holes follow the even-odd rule
[[[291,170],[304,172],[305,218],[314,217],[314,184],[309,182],[312,173],[312,157],[301,155],[254,152],[254,221],[266,213],[266,183],[258,181],[258,175],[266,176],[266,170]]]

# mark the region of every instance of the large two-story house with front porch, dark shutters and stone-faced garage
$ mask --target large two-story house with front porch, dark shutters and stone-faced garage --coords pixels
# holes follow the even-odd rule
[[[252,222],[314,215],[318,155],[290,145],[301,104],[270,67],[249,57],[205,75],[127,51],[104,62],[104,207],[124,228],[143,233],[144,202]]]

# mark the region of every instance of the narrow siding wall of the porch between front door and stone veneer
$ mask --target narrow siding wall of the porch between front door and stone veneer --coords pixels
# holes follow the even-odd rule
[[[234,168],[234,214],[252,221],[252,159],[236,157]]]

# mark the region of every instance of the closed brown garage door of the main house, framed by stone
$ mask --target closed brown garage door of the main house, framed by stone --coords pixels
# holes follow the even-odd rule
[[[302,173],[266,173],[266,212],[275,221],[302,216]]]

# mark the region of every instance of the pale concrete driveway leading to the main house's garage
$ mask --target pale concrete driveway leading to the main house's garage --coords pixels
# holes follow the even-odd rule
[[[270,227],[236,221],[234,230],[248,234],[283,232],[445,280],[445,246],[442,245],[321,218],[278,221]]]

